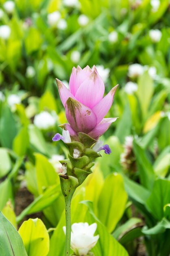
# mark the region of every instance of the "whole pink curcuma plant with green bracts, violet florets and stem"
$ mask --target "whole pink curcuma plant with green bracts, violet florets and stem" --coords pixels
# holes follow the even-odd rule
[[[70,255],[71,200],[74,191],[92,173],[94,159],[101,157],[99,151],[111,153],[109,145],[103,145],[99,137],[117,118],[104,118],[113,103],[116,85],[105,96],[105,85],[96,67],[73,67],[70,76],[70,90],[57,79],[59,94],[69,124],[63,124],[62,135],[57,133],[52,140],[60,139],[68,146],[68,159],[61,160],[59,173],[61,190],[65,198],[65,256]],[[79,255],[79,254],[76,254]]]

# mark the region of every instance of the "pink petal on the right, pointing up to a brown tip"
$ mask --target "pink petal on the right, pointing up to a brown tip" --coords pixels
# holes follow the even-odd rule
[[[100,121],[102,121],[102,119],[105,117],[105,115],[111,108],[117,88],[118,85],[113,87],[111,91],[101,101],[99,101],[99,103],[96,106],[94,106],[94,108],[92,108],[97,117],[97,124],[99,124]]]

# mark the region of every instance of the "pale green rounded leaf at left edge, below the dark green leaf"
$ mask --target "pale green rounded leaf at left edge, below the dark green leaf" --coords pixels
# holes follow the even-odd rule
[[[0,148],[0,178],[11,170],[11,159],[6,148]]]

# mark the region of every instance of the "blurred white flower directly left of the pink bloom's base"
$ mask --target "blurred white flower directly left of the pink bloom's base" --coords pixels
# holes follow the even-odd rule
[[[39,129],[48,130],[48,128],[54,127],[56,119],[47,111],[42,111],[34,117],[34,124]]]

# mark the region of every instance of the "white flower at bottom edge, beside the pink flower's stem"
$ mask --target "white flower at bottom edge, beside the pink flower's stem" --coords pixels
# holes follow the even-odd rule
[[[71,248],[78,256],[85,256],[96,245],[99,235],[94,236],[97,224],[89,225],[87,222],[74,223],[71,232]],[[66,228],[63,227],[64,233]]]

